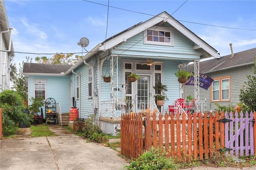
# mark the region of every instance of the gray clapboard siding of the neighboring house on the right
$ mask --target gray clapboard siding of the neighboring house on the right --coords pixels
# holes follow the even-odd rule
[[[220,101],[217,102],[221,106],[228,106],[228,105],[234,105],[236,106],[237,103],[240,102],[239,95],[240,90],[242,89],[245,82],[248,81],[246,75],[252,75],[252,65],[246,65],[242,67],[236,67],[236,68],[230,68],[225,69],[222,71],[216,71],[212,73],[206,73],[212,78],[218,78],[218,77],[225,77],[230,76],[230,101]],[[210,96],[211,96],[211,89],[206,91],[202,88],[199,90],[200,92],[200,100],[206,99],[206,107],[207,110],[215,110],[218,107],[216,107],[216,102],[210,102]],[[194,86],[185,86],[184,91],[185,98],[188,95],[191,95],[194,97]]]

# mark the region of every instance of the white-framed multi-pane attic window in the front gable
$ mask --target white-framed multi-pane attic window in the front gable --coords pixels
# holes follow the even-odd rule
[[[174,28],[153,26],[143,34],[145,44],[174,46]]]

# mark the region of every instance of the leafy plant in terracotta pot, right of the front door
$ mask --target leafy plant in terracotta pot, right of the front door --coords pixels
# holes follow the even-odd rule
[[[163,85],[162,83],[158,83],[153,88],[156,90],[156,95],[154,95],[156,105],[163,106],[164,101],[168,100],[166,95],[162,95],[162,93],[164,94],[164,92],[168,90],[166,85]]]

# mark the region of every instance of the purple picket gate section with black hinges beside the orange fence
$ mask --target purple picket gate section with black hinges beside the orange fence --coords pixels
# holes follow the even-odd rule
[[[236,111],[225,113],[225,118],[231,120],[225,123],[225,147],[228,149],[226,154],[231,156],[254,155],[254,113],[250,116],[246,111],[244,114]]]

